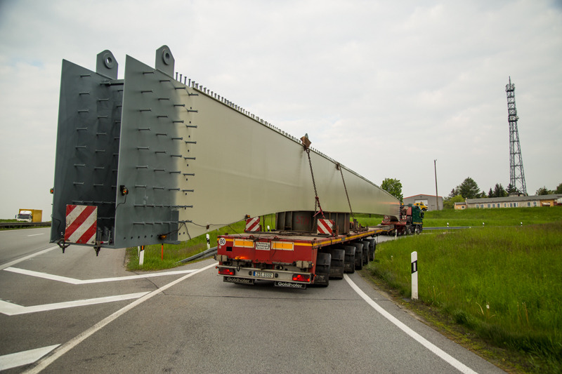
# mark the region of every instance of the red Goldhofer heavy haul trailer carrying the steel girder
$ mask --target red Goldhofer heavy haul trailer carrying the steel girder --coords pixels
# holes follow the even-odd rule
[[[282,212],[276,214],[272,232],[218,236],[218,275],[230,283],[257,280],[289,288],[328,286],[330,278],[342,279],[344,272],[353,273],[374,260],[374,238],[393,229],[391,225],[351,225],[350,213],[324,215]],[[318,229],[312,232],[311,227]]]

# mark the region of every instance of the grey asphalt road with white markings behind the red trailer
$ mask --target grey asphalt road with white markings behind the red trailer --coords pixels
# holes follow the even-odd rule
[[[126,272],[123,262],[124,250],[102,249],[96,258],[91,248],[70,246],[64,255],[57,248],[1,270],[0,368],[502,373],[412,318],[358,274],[327,288],[294,290],[223,283],[213,260],[145,277]]]

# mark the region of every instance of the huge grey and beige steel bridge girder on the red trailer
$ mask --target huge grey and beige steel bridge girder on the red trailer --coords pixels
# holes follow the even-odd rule
[[[178,243],[247,215],[314,211],[301,140],[182,83],[174,63],[167,46],[154,68],[126,56],[117,79],[110,51],[98,54],[96,72],[63,60],[51,242]],[[311,163],[325,211],[398,215],[398,200],[351,169],[314,149]],[[79,206],[96,208],[87,240],[69,234],[68,207]]]

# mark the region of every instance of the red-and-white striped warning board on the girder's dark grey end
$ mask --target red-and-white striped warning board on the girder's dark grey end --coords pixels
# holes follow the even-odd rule
[[[66,206],[65,241],[68,243],[96,244],[97,229],[97,206]]]

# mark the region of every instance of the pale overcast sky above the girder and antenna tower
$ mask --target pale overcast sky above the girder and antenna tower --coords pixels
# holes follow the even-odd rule
[[[420,5],[423,4],[423,5]],[[562,1],[0,0],[0,218],[51,215],[63,59],[176,71],[403,195],[509,184],[516,86],[529,194],[562,182]]]

